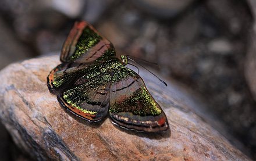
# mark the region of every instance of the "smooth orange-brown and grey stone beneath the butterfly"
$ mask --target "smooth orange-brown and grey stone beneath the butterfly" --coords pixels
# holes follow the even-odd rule
[[[147,71],[140,75],[168,117],[170,130],[148,134],[81,120],[49,93],[47,76],[59,56],[9,65],[0,73],[0,118],[16,144],[38,160],[250,160],[194,94],[168,87]],[[221,132],[218,132],[221,131]],[[233,146],[230,144],[233,142]]]

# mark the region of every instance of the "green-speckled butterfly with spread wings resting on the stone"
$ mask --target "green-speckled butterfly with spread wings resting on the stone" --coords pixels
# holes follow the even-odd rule
[[[125,67],[127,57],[86,22],[75,22],[61,53],[61,64],[47,77],[59,103],[82,119],[97,122],[108,115],[128,130],[166,131],[165,113],[142,78]]]

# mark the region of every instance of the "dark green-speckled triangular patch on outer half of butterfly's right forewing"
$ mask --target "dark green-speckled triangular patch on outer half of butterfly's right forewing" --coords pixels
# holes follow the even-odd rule
[[[133,115],[157,116],[161,114],[161,109],[148,93],[147,88],[139,88],[132,96],[123,100],[121,103],[109,108],[110,113],[131,112]]]

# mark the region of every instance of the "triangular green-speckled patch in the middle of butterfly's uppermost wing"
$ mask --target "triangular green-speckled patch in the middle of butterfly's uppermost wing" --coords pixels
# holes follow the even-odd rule
[[[100,40],[102,40],[102,37],[92,32],[90,27],[87,26],[84,28],[79,40],[77,40],[76,51],[73,56],[70,57],[70,60],[79,58],[81,54],[86,53],[88,49],[92,48]]]

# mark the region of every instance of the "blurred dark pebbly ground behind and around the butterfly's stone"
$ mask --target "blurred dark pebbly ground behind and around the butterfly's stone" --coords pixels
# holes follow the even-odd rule
[[[256,159],[255,0],[1,0],[0,69],[60,53],[76,20],[207,102]],[[161,74],[158,74],[161,77]],[[30,160],[0,127],[0,160]]]

